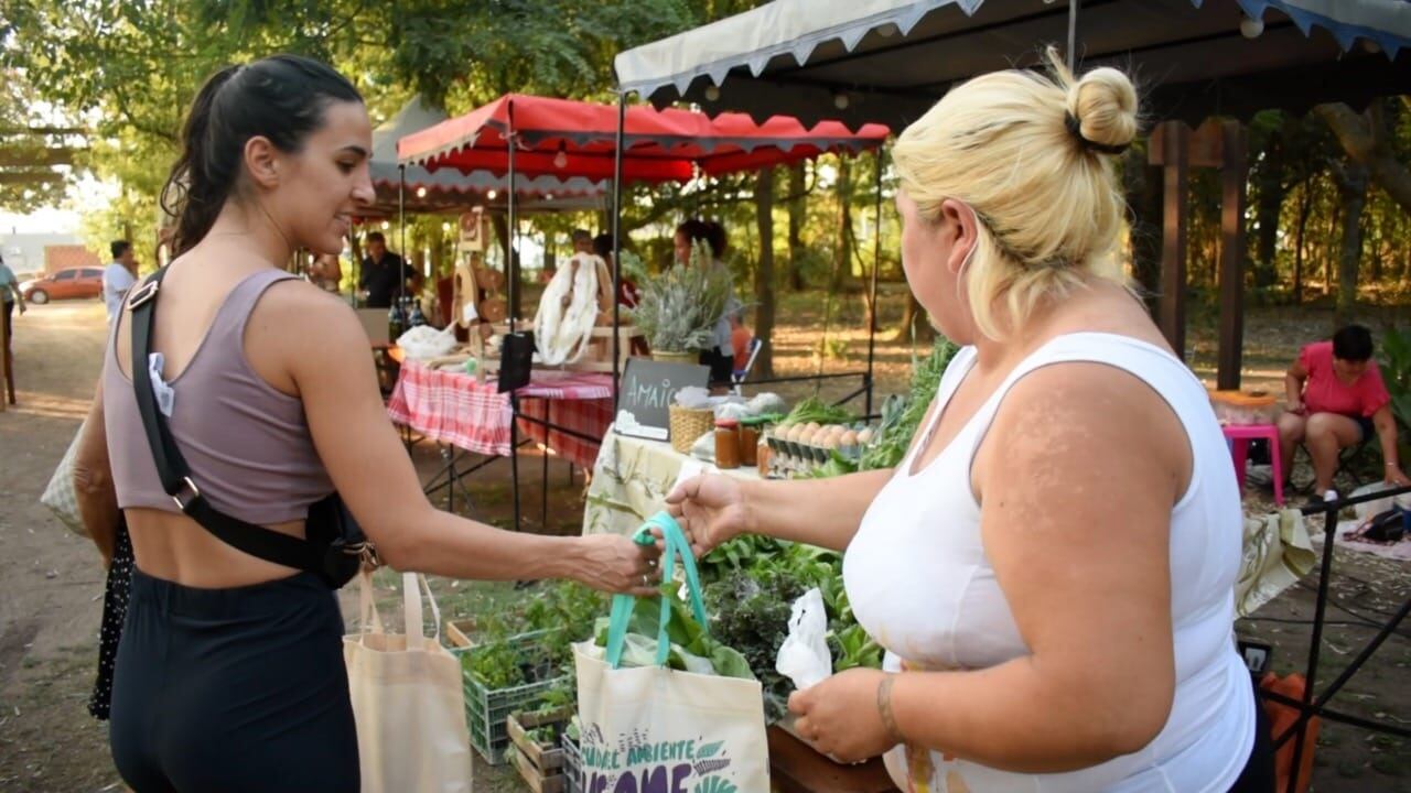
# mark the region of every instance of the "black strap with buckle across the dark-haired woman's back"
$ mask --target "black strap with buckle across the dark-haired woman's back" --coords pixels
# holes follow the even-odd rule
[[[206,501],[190,476],[190,467],[176,447],[166,419],[157,409],[152,394],[152,378],[148,373],[148,356],[152,349],[152,326],[157,320],[157,292],[161,289],[166,268],[161,268],[127,299],[133,309],[133,389],[137,395],[137,412],[143,416],[147,444],[157,461],[157,476],[162,490],[172,497],[176,507],[190,519],[200,523],[217,539],[251,556],[310,573],[322,571],[322,559],[313,545],[295,536],[270,531],[255,523],[247,523],[220,512]]]

